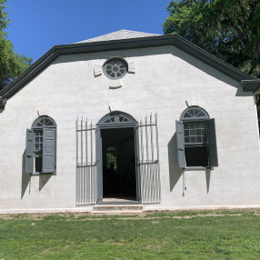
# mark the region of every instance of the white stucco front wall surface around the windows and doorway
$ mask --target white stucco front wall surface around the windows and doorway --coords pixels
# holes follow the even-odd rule
[[[111,56],[135,61],[135,74],[110,89],[95,65]],[[187,105],[215,118],[219,167],[185,172],[177,167],[175,120]],[[260,205],[258,126],[254,96],[212,67],[173,46],[60,56],[7,102],[0,114],[0,212],[88,210],[75,207],[75,120],[97,123],[109,106],[135,117],[157,112],[161,203],[146,209]],[[23,174],[25,129],[37,111],[57,124],[56,175]],[[183,182],[185,179],[185,196]]]

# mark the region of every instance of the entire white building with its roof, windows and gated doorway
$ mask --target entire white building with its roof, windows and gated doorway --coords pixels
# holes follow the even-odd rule
[[[259,82],[178,35],[57,45],[0,92],[0,211],[259,206]]]

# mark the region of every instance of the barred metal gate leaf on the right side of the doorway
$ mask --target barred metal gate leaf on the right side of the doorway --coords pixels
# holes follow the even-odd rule
[[[138,125],[139,132],[139,167],[141,181],[141,202],[143,204],[160,203],[160,165],[159,165],[159,145],[157,114],[153,121],[153,116]]]

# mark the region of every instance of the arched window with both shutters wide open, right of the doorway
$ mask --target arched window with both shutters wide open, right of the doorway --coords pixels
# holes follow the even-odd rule
[[[204,109],[192,106],[176,121],[178,164],[186,170],[218,166],[215,119]]]

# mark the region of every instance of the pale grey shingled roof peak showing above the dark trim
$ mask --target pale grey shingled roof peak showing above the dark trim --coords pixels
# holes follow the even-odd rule
[[[110,33],[107,35],[101,35],[95,38],[87,39],[85,41],[78,42],[76,44],[82,43],[95,43],[95,42],[104,42],[104,41],[116,41],[116,40],[123,40],[123,39],[133,39],[133,38],[141,38],[141,37],[149,37],[149,36],[158,36],[154,34],[146,34],[136,31],[129,31],[129,30],[119,30],[114,33]]]

